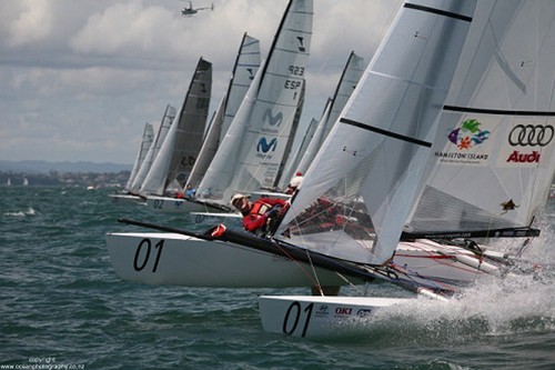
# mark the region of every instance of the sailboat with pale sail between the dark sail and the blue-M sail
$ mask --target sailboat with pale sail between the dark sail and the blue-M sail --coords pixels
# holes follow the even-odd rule
[[[228,89],[219,104],[218,111],[212,117],[209,130],[196,160],[191,169],[184,187],[191,184],[194,189],[204,177],[208,167],[225,137],[228,129],[235,117],[235,113],[243,101],[243,98],[254,80],[261,62],[260,42],[258,39],[244,33],[235,58]],[[184,193],[185,189],[181,189]],[[149,197],[147,206],[157,211],[222,211],[223,207],[210,207],[195,201],[191,197],[175,199],[175,197]]]

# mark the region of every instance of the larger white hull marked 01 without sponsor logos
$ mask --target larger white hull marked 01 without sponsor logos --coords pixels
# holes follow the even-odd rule
[[[306,264],[222,241],[175,233],[109,233],[107,247],[115,272],[147,284],[221,288],[312,287]],[[316,269],[322,286],[345,282]]]

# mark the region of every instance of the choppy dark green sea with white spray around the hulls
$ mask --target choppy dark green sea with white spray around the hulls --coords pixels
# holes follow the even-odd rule
[[[554,202],[527,251],[544,266],[536,274],[482,281],[448,308],[417,300],[361,322],[356,336],[310,341],[265,333],[258,314],[259,294],[304,289],[120,279],[104,234],[135,228],[118,218],[188,224],[109,192],[0,188],[0,369],[555,369]]]

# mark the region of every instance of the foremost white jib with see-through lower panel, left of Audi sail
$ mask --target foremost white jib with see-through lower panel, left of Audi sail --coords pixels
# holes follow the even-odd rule
[[[381,264],[392,257],[474,7],[455,0],[404,3],[310,167],[280,233],[351,261]]]

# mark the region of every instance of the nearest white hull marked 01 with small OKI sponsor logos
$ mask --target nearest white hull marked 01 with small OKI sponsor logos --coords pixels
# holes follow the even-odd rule
[[[364,330],[361,320],[411,298],[261,296],[264,331],[299,338],[352,336]]]

